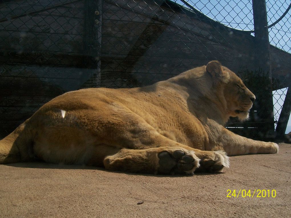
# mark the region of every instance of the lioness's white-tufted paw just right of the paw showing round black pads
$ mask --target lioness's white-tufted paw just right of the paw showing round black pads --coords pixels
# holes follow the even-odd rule
[[[229,157],[224,151],[210,151],[211,155],[205,155],[205,158],[201,158],[200,167],[196,172],[218,172],[223,167],[229,167]]]

